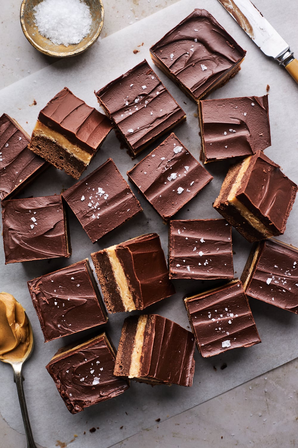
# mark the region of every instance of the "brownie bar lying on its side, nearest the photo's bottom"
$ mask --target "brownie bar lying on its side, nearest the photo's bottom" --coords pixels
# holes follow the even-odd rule
[[[114,375],[149,384],[193,382],[195,338],[185,328],[156,314],[125,319]]]

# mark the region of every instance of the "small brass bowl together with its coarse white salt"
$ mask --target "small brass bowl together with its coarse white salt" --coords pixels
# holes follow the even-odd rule
[[[47,56],[84,52],[101,33],[102,0],[23,0],[21,26],[25,37]]]

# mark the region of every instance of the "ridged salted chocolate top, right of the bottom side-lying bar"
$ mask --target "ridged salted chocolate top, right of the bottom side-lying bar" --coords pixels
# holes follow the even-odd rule
[[[185,297],[185,306],[204,358],[261,342],[239,280]]]

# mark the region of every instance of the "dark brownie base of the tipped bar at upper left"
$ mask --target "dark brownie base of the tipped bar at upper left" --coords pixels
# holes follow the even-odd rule
[[[63,146],[42,135],[34,135],[28,147],[35,154],[40,155],[56,168],[64,170],[74,179],[79,179],[82,172],[87,168],[87,164],[67,152]]]

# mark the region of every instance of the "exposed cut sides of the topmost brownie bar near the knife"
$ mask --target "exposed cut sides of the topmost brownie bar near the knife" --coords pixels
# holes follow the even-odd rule
[[[204,98],[206,95],[209,95],[211,92],[213,92],[213,90],[219,89],[220,87],[224,86],[225,84],[227,84],[227,82],[231,79],[234,78],[234,76],[239,72],[239,70],[241,69],[240,65],[244,59],[244,57],[237,63],[235,64],[231,70],[227,73],[225,73],[222,78],[219,78],[217,80],[217,82],[215,82],[213,85],[211,85],[207,90],[204,91],[204,93],[202,93],[200,96],[195,97],[187,87],[185,87],[185,85],[178,79],[176,78],[175,75],[172,74],[172,72],[168,69],[168,67],[166,67],[164,64],[162,64],[160,62],[160,60],[158,58],[156,58],[156,56],[150,52],[150,56],[151,59],[153,60],[154,64],[156,65],[156,67],[158,67],[166,76],[168,76],[168,78],[170,78],[173,82],[175,82],[176,86],[178,86],[180,88],[180,90],[182,90],[186,96],[188,96],[190,99],[192,99],[195,102],[198,102],[200,99]]]

